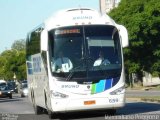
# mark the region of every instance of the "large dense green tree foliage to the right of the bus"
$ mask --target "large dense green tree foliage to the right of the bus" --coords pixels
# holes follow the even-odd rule
[[[160,1],[121,0],[109,15],[128,29],[130,46],[124,49],[128,72],[160,75]]]

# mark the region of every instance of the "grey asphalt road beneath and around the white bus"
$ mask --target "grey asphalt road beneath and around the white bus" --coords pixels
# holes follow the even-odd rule
[[[128,91],[127,96],[137,95],[138,91]],[[146,91],[145,91],[146,92]],[[142,94],[144,94],[141,91]],[[140,92],[138,92],[140,94]],[[151,93],[150,93],[151,94]],[[153,93],[152,93],[153,95]],[[160,95],[160,94],[159,94]],[[0,98],[0,120],[49,120],[47,113],[34,115],[33,107],[28,98],[15,94],[13,99]],[[126,106],[117,110],[115,116],[108,116],[106,111],[78,112],[58,114],[56,120],[105,120],[105,119],[160,119],[160,103],[127,101]]]

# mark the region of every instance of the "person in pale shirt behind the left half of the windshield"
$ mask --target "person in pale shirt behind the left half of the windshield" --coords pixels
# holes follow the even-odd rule
[[[63,52],[60,51],[58,58],[54,60],[52,70],[55,72],[69,72],[73,68],[71,60],[63,56]]]

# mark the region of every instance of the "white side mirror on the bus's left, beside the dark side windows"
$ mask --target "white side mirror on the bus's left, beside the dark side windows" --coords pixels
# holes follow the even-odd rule
[[[48,31],[43,30],[41,32],[41,51],[47,51],[48,50]]]

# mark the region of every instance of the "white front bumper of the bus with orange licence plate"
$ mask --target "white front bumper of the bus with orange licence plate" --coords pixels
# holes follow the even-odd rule
[[[123,97],[112,98],[78,98],[78,99],[53,99],[53,112],[72,112],[85,110],[118,109],[124,107]]]

